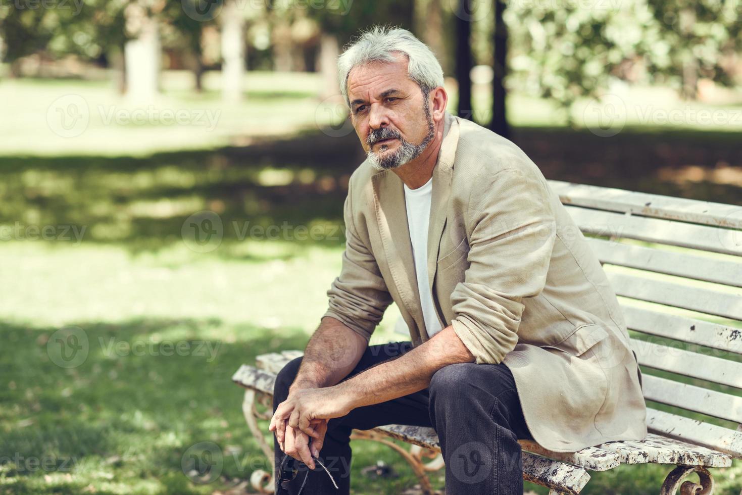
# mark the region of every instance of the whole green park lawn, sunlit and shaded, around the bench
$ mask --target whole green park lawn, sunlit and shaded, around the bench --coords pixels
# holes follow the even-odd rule
[[[250,75],[246,102],[230,106],[213,75],[194,96],[187,75],[165,74],[163,105],[223,111],[211,133],[106,126],[91,117],[88,130],[71,138],[51,133],[49,102],[82,94],[93,108],[125,105],[108,83],[0,81],[2,108],[13,115],[0,122],[1,494],[212,494],[267,468],[230,378],[256,355],[301,349],[324,313],[340,269],[344,183],[358,163],[358,143],[316,131],[315,115],[332,120],[312,94],[318,79]],[[543,105],[516,105],[522,113],[513,118],[559,125],[536,111]],[[300,128],[303,137],[263,148],[249,137]],[[256,146],[228,146],[249,140]],[[663,186],[636,180],[646,189]],[[219,215],[223,240],[197,252],[187,220],[203,210]],[[249,233],[284,223],[293,240]],[[62,238],[69,226],[85,229],[79,242]],[[298,226],[322,235],[296,240]],[[44,227],[52,238],[33,240]],[[398,338],[397,315],[390,309],[372,343]],[[84,335],[87,358],[60,367],[56,338],[70,332]],[[164,355],[170,344],[192,352]],[[182,466],[201,442],[223,453],[221,476],[206,485]],[[355,493],[396,494],[416,482],[389,448],[356,442],[354,453]],[[398,477],[361,474],[378,459]],[[591,473],[583,493],[654,494],[671,469]],[[738,494],[739,464],[713,472],[716,493]],[[441,476],[433,475],[438,487]]]

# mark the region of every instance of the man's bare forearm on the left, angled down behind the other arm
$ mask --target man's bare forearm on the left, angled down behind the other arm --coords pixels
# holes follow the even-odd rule
[[[322,318],[309,344],[306,344],[301,367],[290,390],[332,387],[361,360],[368,342],[341,321]]]

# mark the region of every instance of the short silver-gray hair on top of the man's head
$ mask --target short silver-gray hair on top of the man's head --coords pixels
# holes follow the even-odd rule
[[[396,62],[395,54],[398,53],[407,57],[407,74],[425,94],[443,85],[440,62],[413,33],[401,27],[374,26],[361,33],[338,57],[340,91],[345,102],[350,105],[348,76],[352,68],[369,62]]]

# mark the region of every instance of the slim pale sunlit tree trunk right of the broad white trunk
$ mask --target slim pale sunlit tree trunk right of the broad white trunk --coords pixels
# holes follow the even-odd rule
[[[237,0],[224,2],[222,15],[222,96],[237,102],[243,96],[245,73],[245,18]]]

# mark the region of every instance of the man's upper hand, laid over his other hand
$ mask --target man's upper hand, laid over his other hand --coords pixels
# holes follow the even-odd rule
[[[275,431],[279,445],[286,442],[287,427],[300,430],[312,439],[324,439],[324,432],[318,431],[312,422],[316,419],[339,418],[351,409],[349,398],[338,393],[335,387],[295,390],[278,404],[268,429]],[[326,421],[324,429],[326,430]]]

